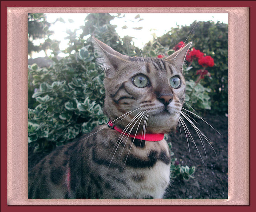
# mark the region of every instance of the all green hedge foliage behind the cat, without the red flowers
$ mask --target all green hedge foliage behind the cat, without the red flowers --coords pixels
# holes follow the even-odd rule
[[[29,15],[35,22],[41,17]],[[53,50],[50,57],[52,63],[49,67],[28,66],[29,148],[50,151],[90,132],[96,125],[106,123],[107,117],[102,112],[104,73],[95,65],[96,55],[90,35],[121,54],[141,55],[132,37],[120,38],[116,33],[116,26],[110,24],[115,17],[120,17],[120,14],[89,14],[85,26],[80,27],[83,32],[79,36],[76,31],[67,31],[69,47],[63,52],[70,56],[66,58],[57,57],[59,42],[49,39],[51,31],[45,28],[42,36],[47,38],[48,47]],[[46,19],[37,24],[45,25],[45,22]],[[173,47],[178,42],[192,41],[192,47],[214,58],[215,66],[208,68],[211,77],[205,77],[196,87],[196,71],[200,66],[193,62],[189,68],[184,67],[187,70],[184,72],[187,80],[186,103],[201,113],[225,114],[228,112],[228,25],[211,21],[195,24],[172,28],[165,35],[155,37],[141,51],[144,57],[168,56],[174,52]],[[31,51],[28,49],[28,52]],[[192,110],[187,104],[184,107]]]

